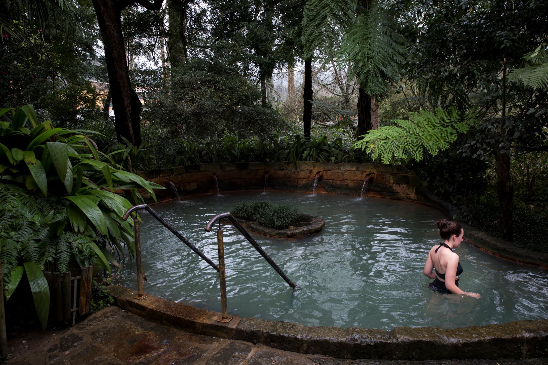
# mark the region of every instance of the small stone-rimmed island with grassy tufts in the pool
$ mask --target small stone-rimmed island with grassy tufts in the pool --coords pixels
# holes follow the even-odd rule
[[[318,233],[326,222],[317,216],[300,213],[290,205],[274,205],[269,201],[244,201],[232,211],[249,230],[278,238],[300,238]]]

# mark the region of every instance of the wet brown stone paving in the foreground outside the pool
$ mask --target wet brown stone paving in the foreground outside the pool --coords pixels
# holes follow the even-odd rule
[[[39,332],[39,330],[36,330]],[[111,306],[65,329],[8,337],[8,364],[541,365],[547,358],[499,360],[344,360],[189,333]]]

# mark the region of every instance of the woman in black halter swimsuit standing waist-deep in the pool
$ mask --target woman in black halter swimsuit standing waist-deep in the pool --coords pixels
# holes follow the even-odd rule
[[[463,227],[447,219],[440,219],[436,225],[443,242],[430,249],[424,264],[424,275],[434,279],[429,287],[441,294],[461,294],[481,298],[478,293],[463,292],[459,288],[459,277],[463,273],[463,266],[460,265],[459,255],[453,252],[453,248],[459,247],[460,242],[463,241]],[[434,269],[436,269],[435,272]]]

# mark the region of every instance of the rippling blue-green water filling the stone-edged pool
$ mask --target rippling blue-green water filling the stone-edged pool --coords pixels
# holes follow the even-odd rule
[[[218,262],[209,219],[242,200],[296,205],[326,220],[321,233],[303,239],[255,239],[302,290],[286,282],[231,225],[223,225],[229,312],[301,323],[392,329],[444,328],[548,317],[548,271],[490,256],[463,242],[459,254],[464,291],[479,300],[433,293],[423,275],[431,246],[439,241],[433,222],[442,214],[415,204],[349,195],[232,193],[197,196],[153,208]],[[142,214],[145,291],[199,308],[220,311],[219,277],[154,218]],[[129,265],[128,265],[129,266]],[[133,264],[133,267],[135,265]],[[121,283],[136,287],[135,275]]]

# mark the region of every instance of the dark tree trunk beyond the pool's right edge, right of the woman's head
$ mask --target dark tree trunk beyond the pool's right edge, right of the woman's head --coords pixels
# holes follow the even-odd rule
[[[496,192],[499,195],[500,227],[503,239],[513,241],[513,187],[510,177],[510,154],[495,152]]]

